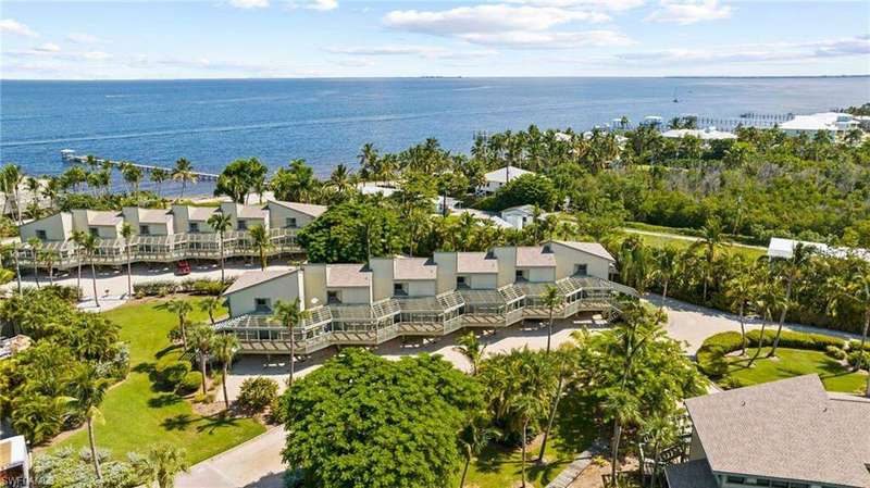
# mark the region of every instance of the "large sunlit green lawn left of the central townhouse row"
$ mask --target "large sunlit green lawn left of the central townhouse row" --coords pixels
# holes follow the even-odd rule
[[[99,447],[123,458],[128,451],[141,452],[156,442],[167,441],[187,449],[188,460],[197,463],[265,431],[251,418],[198,415],[185,399],[154,387],[149,374],[157,359],[175,352],[166,334],[177,318],[158,308],[162,302],[139,302],[105,313],[122,327],[121,338],[129,345],[132,371],[127,379],[107,392],[100,405],[105,422],[95,429]],[[207,321],[208,316],[196,309],[190,320]],[[58,443],[74,448],[86,445],[84,429]]]

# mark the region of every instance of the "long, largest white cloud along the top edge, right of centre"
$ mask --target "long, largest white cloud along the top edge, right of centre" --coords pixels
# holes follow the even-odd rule
[[[572,21],[605,22],[601,13],[552,7],[483,4],[443,11],[395,10],[384,17],[387,27],[434,35],[546,30]]]

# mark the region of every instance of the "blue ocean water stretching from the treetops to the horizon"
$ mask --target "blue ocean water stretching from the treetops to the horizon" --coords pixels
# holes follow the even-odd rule
[[[673,103],[676,93],[680,103]],[[319,174],[427,137],[468,152],[476,130],[573,127],[627,115],[807,113],[870,101],[870,78],[381,78],[0,82],[0,158],[63,171],[61,149],[216,173],[258,157]]]

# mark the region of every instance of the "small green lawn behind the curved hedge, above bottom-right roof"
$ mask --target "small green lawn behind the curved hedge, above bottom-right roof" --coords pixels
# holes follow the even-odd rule
[[[755,349],[749,349],[751,356]],[[733,377],[741,385],[757,385],[811,373],[817,373],[829,391],[862,393],[867,386],[867,373],[854,373],[824,352],[783,349],[776,351],[779,359],[762,359],[770,351],[765,348],[751,368],[746,368],[745,358],[732,358],[726,377]]]

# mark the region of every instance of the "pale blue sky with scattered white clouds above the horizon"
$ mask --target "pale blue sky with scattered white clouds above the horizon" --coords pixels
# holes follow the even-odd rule
[[[870,1],[0,1],[0,77],[870,74]]]

